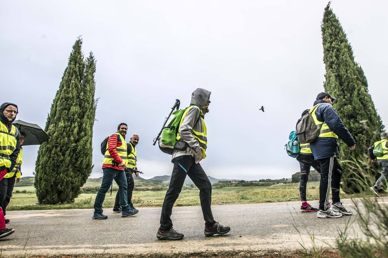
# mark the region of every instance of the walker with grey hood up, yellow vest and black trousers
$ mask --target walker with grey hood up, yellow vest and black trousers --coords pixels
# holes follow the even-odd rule
[[[205,220],[205,236],[226,234],[230,227],[224,227],[213,219],[211,213],[211,183],[199,161],[206,157],[206,125],[204,115],[209,112],[210,91],[198,88],[191,94],[191,104],[186,108],[179,124],[177,144],[172,153],[174,168],[170,186],[163,202],[158,239],[179,240],[183,234],[173,229],[171,221],[172,207],[177,200],[186,174],[199,189],[199,199]]]

